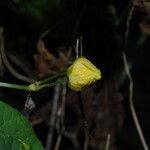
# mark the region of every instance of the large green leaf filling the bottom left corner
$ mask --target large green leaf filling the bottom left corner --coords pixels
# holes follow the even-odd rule
[[[0,101],[0,150],[44,150],[28,121]]]

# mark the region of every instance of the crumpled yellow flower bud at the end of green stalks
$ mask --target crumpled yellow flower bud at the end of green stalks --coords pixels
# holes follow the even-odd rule
[[[101,79],[101,71],[88,59],[79,57],[68,68],[67,77],[69,87],[74,91],[81,91]]]

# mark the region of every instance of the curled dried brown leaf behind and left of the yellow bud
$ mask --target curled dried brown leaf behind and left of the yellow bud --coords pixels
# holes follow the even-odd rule
[[[38,77],[54,75],[64,71],[69,62],[70,53],[60,53],[56,58],[49,52],[43,41],[37,42],[38,54],[34,55],[34,61],[38,72]]]

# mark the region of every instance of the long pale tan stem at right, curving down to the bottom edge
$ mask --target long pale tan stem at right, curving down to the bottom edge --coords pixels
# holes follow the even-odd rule
[[[135,127],[137,129],[137,132],[139,134],[139,137],[140,137],[140,140],[141,140],[141,143],[142,143],[144,150],[149,150],[148,145],[146,143],[146,140],[144,138],[144,135],[143,135],[143,132],[142,132],[135,108],[134,108],[134,104],[133,104],[133,79],[132,79],[132,76],[131,76],[131,73],[130,73],[130,70],[128,67],[126,54],[124,52],[123,52],[123,62],[124,62],[126,74],[128,76],[128,79],[129,79],[129,105],[130,105],[130,110],[131,110],[131,114],[133,117],[133,121],[134,121]]]

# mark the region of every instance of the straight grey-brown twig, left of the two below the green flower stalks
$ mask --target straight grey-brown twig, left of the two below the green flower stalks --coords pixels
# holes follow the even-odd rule
[[[47,142],[46,142],[46,150],[51,150],[51,147],[52,147],[52,140],[53,140],[53,134],[54,134],[55,121],[56,121],[56,113],[58,110],[59,96],[60,96],[60,84],[57,84],[55,86],[54,98],[53,98],[53,103],[52,103],[52,110],[51,110],[51,116],[50,116],[50,122],[49,122],[49,132],[48,132],[48,137],[47,137]]]

